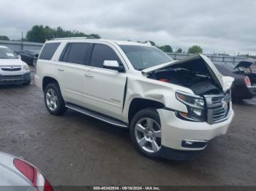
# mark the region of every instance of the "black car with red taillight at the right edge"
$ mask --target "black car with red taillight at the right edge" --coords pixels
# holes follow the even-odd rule
[[[224,76],[233,77],[232,98],[234,100],[251,99],[256,95],[256,74],[251,66],[255,60],[245,60],[236,66],[231,63],[214,63]]]

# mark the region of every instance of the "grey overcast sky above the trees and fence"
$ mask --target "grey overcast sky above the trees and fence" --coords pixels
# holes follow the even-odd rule
[[[187,51],[256,54],[255,0],[0,0],[0,35],[19,39],[32,26],[152,40]]]

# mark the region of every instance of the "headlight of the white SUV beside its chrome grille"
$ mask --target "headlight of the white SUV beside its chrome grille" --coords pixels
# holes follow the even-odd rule
[[[177,117],[197,122],[206,120],[205,101],[202,97],[176,92],[176,98],[187,106],[188,111],[187,113],[176,112]]]

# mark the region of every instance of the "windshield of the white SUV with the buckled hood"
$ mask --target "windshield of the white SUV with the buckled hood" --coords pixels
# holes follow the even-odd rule
[[[120,47],[136,70],[148,69],[162,63],[173,61],[170,56],[158,50],[156,47],[139,45],[120,45]]]

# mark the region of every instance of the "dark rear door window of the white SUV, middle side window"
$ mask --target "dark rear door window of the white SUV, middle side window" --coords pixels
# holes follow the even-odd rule
[[[68,63],[86,64],[86,57],[90,49],[89,43],[69,43],[61,54],[60,61]]]

